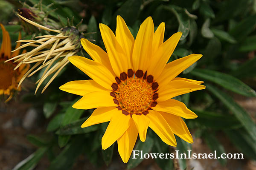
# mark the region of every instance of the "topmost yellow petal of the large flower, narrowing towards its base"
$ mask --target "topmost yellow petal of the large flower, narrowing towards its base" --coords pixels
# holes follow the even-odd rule
[[[134,46],[134,37],[132,36],[131,31],[127,27],[125,20],[123,20],[120,15],[117,15],[116,17],[116,40],[123,48],[125,57],[127,58],[128,69],[132,68],[131,54]]]

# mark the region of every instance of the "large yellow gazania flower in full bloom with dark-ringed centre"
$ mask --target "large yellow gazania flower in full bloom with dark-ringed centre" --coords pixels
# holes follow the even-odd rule
[[[81,127],[110,121],[102,137],[102,149],[117,140],[119,154],[125,163],[138,134],[140,140],[145,141],[148,127],[171,146],[177,145],[174,134],[192,143],[192,136],[181,117],[194,119],[197,115],[172,98],[205,88],[200,85],[201,81],[175,78],[202,55],[191,54],[166,64],[181,32],[163,42],[165,24],[161,23],[154,32],[151,17],[141,24],[136,40],[120,16],[117,16],[116,35],[104,24],[99,28],[107,53],[81,39],[93,60],[69,57],[70,62],[92,80],[67,82],[60,87],[83,96],[73,108],[96,108]]]

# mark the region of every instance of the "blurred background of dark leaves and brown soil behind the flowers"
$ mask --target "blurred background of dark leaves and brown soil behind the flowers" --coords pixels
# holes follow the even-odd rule
[[[21,20],[16,15],[22,15],[20,11],[29,11],[22,16],[58,30],[81,21],[76,36],[85,37],[103,49],[99,23],[115,31],[117,14],[124,18],[134,37],[148,16],[152,16],[155,28],[165,22],[164,40],[182,31],[169,62],[192,53],[203,54],[179,77],[204,81],[207,87],[175,97],[198,115],[197,119],[185,120],[194,143],[176,136],[177,147],[170,147],[148,129],[146,141],[137,140],[134,150],[216,150],[218,156],[243,153],[245,158],[130,159],[124,164],[117,144],[107,150],[101,148],[108,123],[81,129],[93,109],[73,109],[78,96],[58,89],[69,81],[89,79],[69,63],[43,94],[41,91],[52,75],[34,93],[35,82],[44,69],[26,78],[21,91],[15,92],[9,102],[5,102],[6,96],[0,96],[1,170],[256,170],[256,0],[0,0],[0,11],[0,23],[10,34],[12,49],[19,31],[22,39],[29,40],[55,35]],[[0,38],[1,43],[1,31]],[[80,44],[74,51],[90,58]]]

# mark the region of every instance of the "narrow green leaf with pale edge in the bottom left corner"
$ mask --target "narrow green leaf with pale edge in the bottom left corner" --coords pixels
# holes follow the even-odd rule
[[[41,147],[32,153],[29,157],[18,163],[13,170],[33,170],[38,164],[40,159],[44,156],[44,153],[48,150],[48,147]]]

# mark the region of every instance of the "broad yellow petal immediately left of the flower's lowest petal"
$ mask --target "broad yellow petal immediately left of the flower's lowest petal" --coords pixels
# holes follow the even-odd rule
[[[110,147],[119,139],[131,125],[131,116],[126,116],[122,111],[115,109],[110,123],[102,137],[102,149]]]

